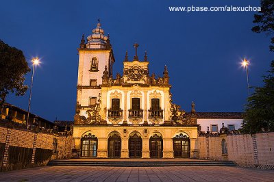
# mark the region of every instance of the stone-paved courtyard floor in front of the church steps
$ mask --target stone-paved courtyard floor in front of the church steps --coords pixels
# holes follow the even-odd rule
[[[52,166],[1,172],[0,181],[274,181],[274,170],[227,166]]]

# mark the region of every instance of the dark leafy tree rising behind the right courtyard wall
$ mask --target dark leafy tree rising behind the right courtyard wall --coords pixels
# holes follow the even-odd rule
[[[247,99],[242,124],[244,133],[274,131],[274,60],[269,75],[263,78],[264,86],[255,88],[255,92]]]

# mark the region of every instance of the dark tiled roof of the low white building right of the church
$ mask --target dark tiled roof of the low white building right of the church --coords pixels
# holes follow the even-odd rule
[[[198,119],[203,118],[230,118],[230,119],[242,119],[242,112],[196,112]]]

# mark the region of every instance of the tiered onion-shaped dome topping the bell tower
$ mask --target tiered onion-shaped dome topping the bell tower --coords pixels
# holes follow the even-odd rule
[[[97,27],[92,29],[92,34],[88,36],[88,43],[86,48],[90,49],[105,49],[108,36],[104,35],[104,31],[101,28],[100,20],[98,20]]]

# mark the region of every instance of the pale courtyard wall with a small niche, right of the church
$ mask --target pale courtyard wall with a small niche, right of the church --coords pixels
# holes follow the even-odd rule
[[[200,159],[229,160],[242,167],[274,169],[274,132],[204,135],[198,140]]]

